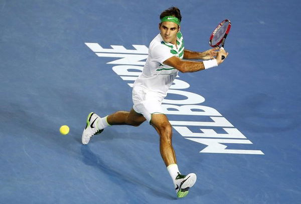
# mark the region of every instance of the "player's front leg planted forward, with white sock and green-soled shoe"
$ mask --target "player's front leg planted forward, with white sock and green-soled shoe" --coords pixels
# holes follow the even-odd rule
[[[155,127],[158,134],[160,135],[161,156],[174,181],[177,196],[185,197],[189,192],[189,188],[192,187],[196,182],[197,176],[195,173],[189,173],[188,175],[180,174],[175,150],[172,145],[172,126],[168,121],[166,115],[152,114],[150,124]]]

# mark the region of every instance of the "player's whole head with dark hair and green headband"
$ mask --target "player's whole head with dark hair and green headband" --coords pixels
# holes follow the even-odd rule
[[[163,40],[167,43],[175,44],[177,41],[177,33],[181,27],[181,12],[177,7],[171,7],[160,15],[160,34]]]

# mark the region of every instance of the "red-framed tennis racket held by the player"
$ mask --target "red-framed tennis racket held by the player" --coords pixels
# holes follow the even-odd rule
[[[226,19],[222,23],[220,23],[209,39],[209,45],[211,47],[219,47],[220,49],[224,49],[225,40],[227,35],[231,29],[231,22]],[[225,56],[222,56],[222,60],[225,59]]]

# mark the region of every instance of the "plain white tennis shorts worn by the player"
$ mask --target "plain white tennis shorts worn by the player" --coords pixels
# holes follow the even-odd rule
[[[164,114],[161,107],[164,97],[154,91],[149,91],[140,86],[134,86],[132,90],[133,109],[150,122],[152,114]]]

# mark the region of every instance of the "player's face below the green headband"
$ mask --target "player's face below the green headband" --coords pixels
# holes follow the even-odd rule
[[[167,43],[176,44],[177,33],[180,31],[180,27],[174,22],[162,22],[159,24],[160,34],[163,40]]]

